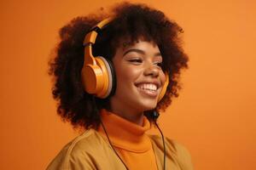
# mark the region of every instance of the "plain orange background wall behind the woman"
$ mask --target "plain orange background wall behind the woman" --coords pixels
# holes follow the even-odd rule
[[[61,26],[119,1],[37,2],[0,3],[0,169],[44,169],[78,135],[55,114],[49,54]],[[165,135],[189,149],[197,170],[256,169],[255,1],[140,2],[183,27],[190,57],[183,90],[160,117]]]

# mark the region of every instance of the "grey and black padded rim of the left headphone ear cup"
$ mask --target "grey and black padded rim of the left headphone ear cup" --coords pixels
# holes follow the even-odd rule
[[[106,73],[104,74],[105,79],[105,87],[102,89],[101,95],[97,95],[102,99],[107,98],[109,95],[114,94],[116,82],[115,82],[115,71],[113,68],[113,64],[110,60],[104,58],[104,57],[96,57],[97,60],[101,59],[104,63],[104,67],[106,68]]]

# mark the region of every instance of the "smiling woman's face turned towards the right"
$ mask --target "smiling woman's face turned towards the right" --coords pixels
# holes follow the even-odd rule
[[[117,48],[113,56],[117,87],[110,98],[112,111],[141,115],[154,109],[166,81],[161,63],[160,50],[153,42],[138,41]]]

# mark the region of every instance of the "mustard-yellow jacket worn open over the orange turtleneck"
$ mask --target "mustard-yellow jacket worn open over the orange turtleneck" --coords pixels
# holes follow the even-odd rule
[[[163,169],[162,139],[150,135],[158,169]],[[147,162],[145,162],[147,163]],[[125,170],[108,141],[94,129],[67,144],[47,167],[47,170]],[[188,150],[166,139],[166,170],[193,170]]]

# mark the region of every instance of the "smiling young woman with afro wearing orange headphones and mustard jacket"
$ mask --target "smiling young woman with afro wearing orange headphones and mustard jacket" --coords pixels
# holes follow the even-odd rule
[[[159,10],[131,3],[61,28],[49,62],[52,94],[58,114],[84,133],[48,170],[193,169],[183,145],[146,133],[158,127],[158,111],[177,97],[180,71],[188,67],[181,32]]]

